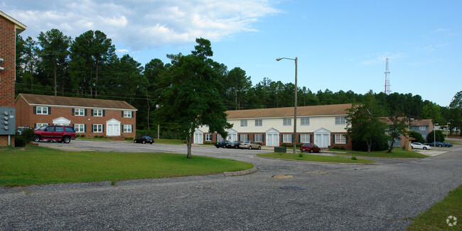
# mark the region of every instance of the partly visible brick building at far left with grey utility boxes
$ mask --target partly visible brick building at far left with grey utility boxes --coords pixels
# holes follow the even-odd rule
[[[11,123],[11,120],[14,121],[15,115],[14,113],[6,115],[5,110],[6,108],[14,107],[16,35],[23,32],[23,30],[26,30],[23,23],[0,11],[0,112],[2,113],[0,119],[0,146],[14,146],[15,126],[14,123]],[[10,134],[11,131],[12,135]]]

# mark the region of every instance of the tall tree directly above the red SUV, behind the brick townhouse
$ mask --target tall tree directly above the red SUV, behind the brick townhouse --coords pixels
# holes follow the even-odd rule
[[[42,47],[39,51],[43,67],[55,80],[55,96],[57,96],[57,78],[59,70],[65,68],[68,62],[70,43],[72,38],[66,36],[58,29],[51,29],[38,35],[38,43]]]

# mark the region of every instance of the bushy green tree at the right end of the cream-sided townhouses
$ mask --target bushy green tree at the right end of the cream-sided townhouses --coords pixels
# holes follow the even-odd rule
[[[367,154],[370,154],[373,140],[380,140],[385,135],[385,122],[381,120],[383,108],[375,100],[374,93],[369,91],[366,101],[353,104],[346,117],[347,133],[352,140],[364,141]]]

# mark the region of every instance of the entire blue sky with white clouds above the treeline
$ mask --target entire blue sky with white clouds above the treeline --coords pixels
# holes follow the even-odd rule
[[[0,11],[36,38],[57,28],[75,38],[101,30],[117,54],[141,64],[189,54],[195,38],[212,42],[213,60],[311,91],[385,90],[448,106],[462,91],[462,1],[3,1]]]

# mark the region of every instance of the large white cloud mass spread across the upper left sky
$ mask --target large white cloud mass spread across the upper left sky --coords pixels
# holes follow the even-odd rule
[[[87,30],[101,30],[134,50],[156,45],[190,43],[195,38],[217,41],[237,33],[257,31],[252,24],[280,13],[272,0],[97,0],[2,2],[28,26],[33,38],[57,28],[72,38]]]

